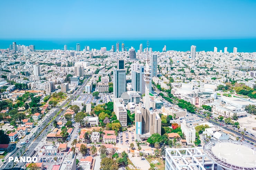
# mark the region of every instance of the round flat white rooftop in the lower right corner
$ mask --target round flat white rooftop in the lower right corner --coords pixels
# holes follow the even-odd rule
[[[256,147],[233,140],[212,140],[204,153],[223,170],[256,170]]]

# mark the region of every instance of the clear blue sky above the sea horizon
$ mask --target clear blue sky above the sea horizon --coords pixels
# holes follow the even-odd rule
[[[256,0],[6,0],[0,39],[255,38]]]

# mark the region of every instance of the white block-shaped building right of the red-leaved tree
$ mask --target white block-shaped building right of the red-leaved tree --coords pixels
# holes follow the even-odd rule
[[[185,120],[181,123],[181,131],[186,137],[186,142],[188,145],[193,145],[195,141],[195,128],[186,123]]]

